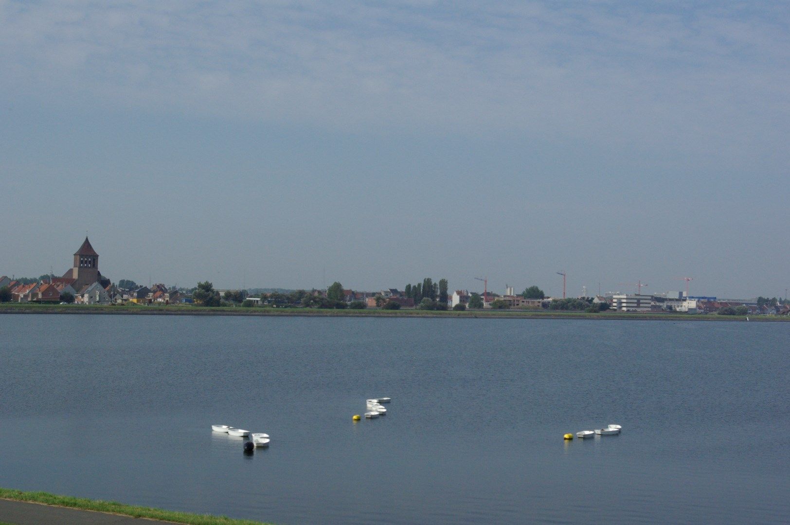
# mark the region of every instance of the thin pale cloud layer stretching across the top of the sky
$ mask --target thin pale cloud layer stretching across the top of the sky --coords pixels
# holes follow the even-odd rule
[[[663,137],[786,114],[781,6],[649,6],[6,1],[0,66],[16,96],[327,128]]]

